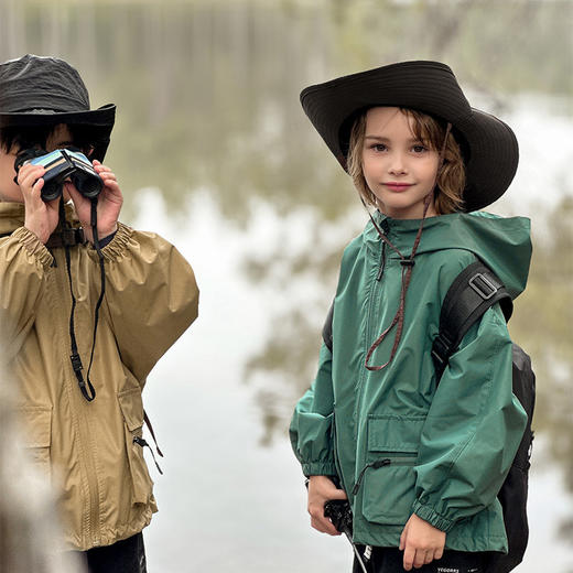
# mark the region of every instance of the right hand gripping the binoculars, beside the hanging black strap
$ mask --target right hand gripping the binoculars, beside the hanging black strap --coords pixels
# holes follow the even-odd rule
[[[98,175],[104,180],[104,188],[98,196],[97,202],[97,231],[100,239],[116,233],[118,228],[119,212],[123,204],[123,196],[119,188],[117,177],[113,172],[102,165],[99,161],[94,160],[94,169]],[[69,193],[74,205],[76,206],[76,213],[84,228],[87,240],[94,242],[94,236],[91,233],[91,201],[84,197],[74,184],[69,181],[65,183],[66,191]]]

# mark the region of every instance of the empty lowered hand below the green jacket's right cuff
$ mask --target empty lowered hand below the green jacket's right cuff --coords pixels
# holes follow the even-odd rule
[[[421,567],[440,559],[444,553],[445,532],[431,526],[415,513],[404,526],[400,536],[400,551],[404,552],[404,569]]]

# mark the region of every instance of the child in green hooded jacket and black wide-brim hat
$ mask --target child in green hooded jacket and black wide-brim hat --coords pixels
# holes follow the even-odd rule
[[[527,421],[499,305],[440,386],[431,348],[452,281],[476,259],[513,298],[525,288],[529,221],[477,212],[510,184],[516,138],[437,62],[311,86],[301,101],[375,210],[345,249],[332,350],[291,423],[311,523],[337,534],[324,505],[348,498],[371,572],[486,571],[490,552],[507,551],[496,495]]]

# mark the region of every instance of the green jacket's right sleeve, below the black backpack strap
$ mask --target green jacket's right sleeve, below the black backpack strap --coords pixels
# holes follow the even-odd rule
[[[499,305],[451,357],[422,430],[413,511],[443,531],[489,506],[527,414],[512,393],[511,340]]]

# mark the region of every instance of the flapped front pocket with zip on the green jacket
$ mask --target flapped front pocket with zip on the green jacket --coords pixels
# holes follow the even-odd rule
[[[368,521],[402,526],[412,515],[423,423],[423,418],[369,418],[368,458],[361,476],[363,515]]]

